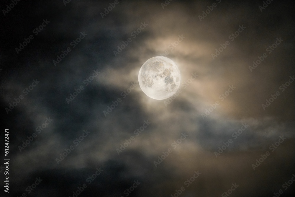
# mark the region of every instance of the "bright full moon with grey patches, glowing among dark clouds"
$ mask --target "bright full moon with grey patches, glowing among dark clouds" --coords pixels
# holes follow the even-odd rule
[[[180,71],[169,58],[156,56],[140,68],[138,82],[142,92],[156,100],[171,97],[180,86]]]

